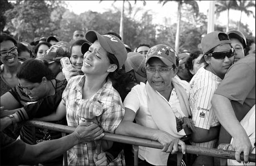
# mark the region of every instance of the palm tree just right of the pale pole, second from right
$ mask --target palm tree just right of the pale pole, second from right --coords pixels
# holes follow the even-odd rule
[[[220,13],[228,10],[228,23],[226,24],[226,32],[229,31],[229,10],[236,9],[237,2],[236,1],[217,1],[216,4],[216,14],[217,17],[220,16]]]

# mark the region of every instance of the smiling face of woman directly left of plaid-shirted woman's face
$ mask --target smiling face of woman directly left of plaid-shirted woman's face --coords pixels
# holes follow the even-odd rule
[[[84,62],[84,55],[81,52],[81,45],[75,45],[72,47],[72,53],[70,57],[72,65],[76,66],[79,73],[82,74],[82,63]]]

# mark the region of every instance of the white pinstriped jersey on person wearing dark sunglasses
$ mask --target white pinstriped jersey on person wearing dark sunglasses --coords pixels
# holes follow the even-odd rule
[[[212,96],[220,85],[222,79],[212,72],[201,67],[190,81],[189,105],[192,120],[196,127],[209,130],[210,127],[220,125],[213,112]],[[213,148],[216,140],[204,143],[193,143],[195,146]]]

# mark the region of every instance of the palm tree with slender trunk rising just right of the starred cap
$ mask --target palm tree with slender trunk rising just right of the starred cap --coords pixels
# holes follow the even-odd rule
[[[158,3],[163,3],[162,6],[164,6],[167,2],[171,1],[158,1]],[[180,21],[181,21],[181,9],[182,5],[191,5],[193,8],[193,11],[195,11],[195,14],[199,13],[199,6],[196,1],[175,1],[178,3],[178,11],[177,11],[177,30],[176,30],[176,37],[175,37],[175,51],[179,53],[179,38],[180,38]]]

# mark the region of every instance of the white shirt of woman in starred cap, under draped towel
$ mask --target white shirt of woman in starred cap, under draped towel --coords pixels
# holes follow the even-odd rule
[[[188,82],[181,80],[180,83],[185,88],[188,95]],[[175,88],[171,92],[170,100],[168,103],[170,103],[172,108],[176,108],[177,112],[179,112],[182,117],[185,116],[181,111],[180,101],[177,98]],[[131,89],[131,92],[126,96],[123,105],[124,107],[129,108],[135,112],[135,120],[137,124],[150,127],[152,129],[158,129],[150,114],[150,110],[147,107],[147,91],[145,83],[141,82],[141,84],[134,86]],[[148,163],[153,165],[166,165],[168,155],[169,154],[162,152],[159,149],[139,146],[139,158],[142,160],[146,159]]]

